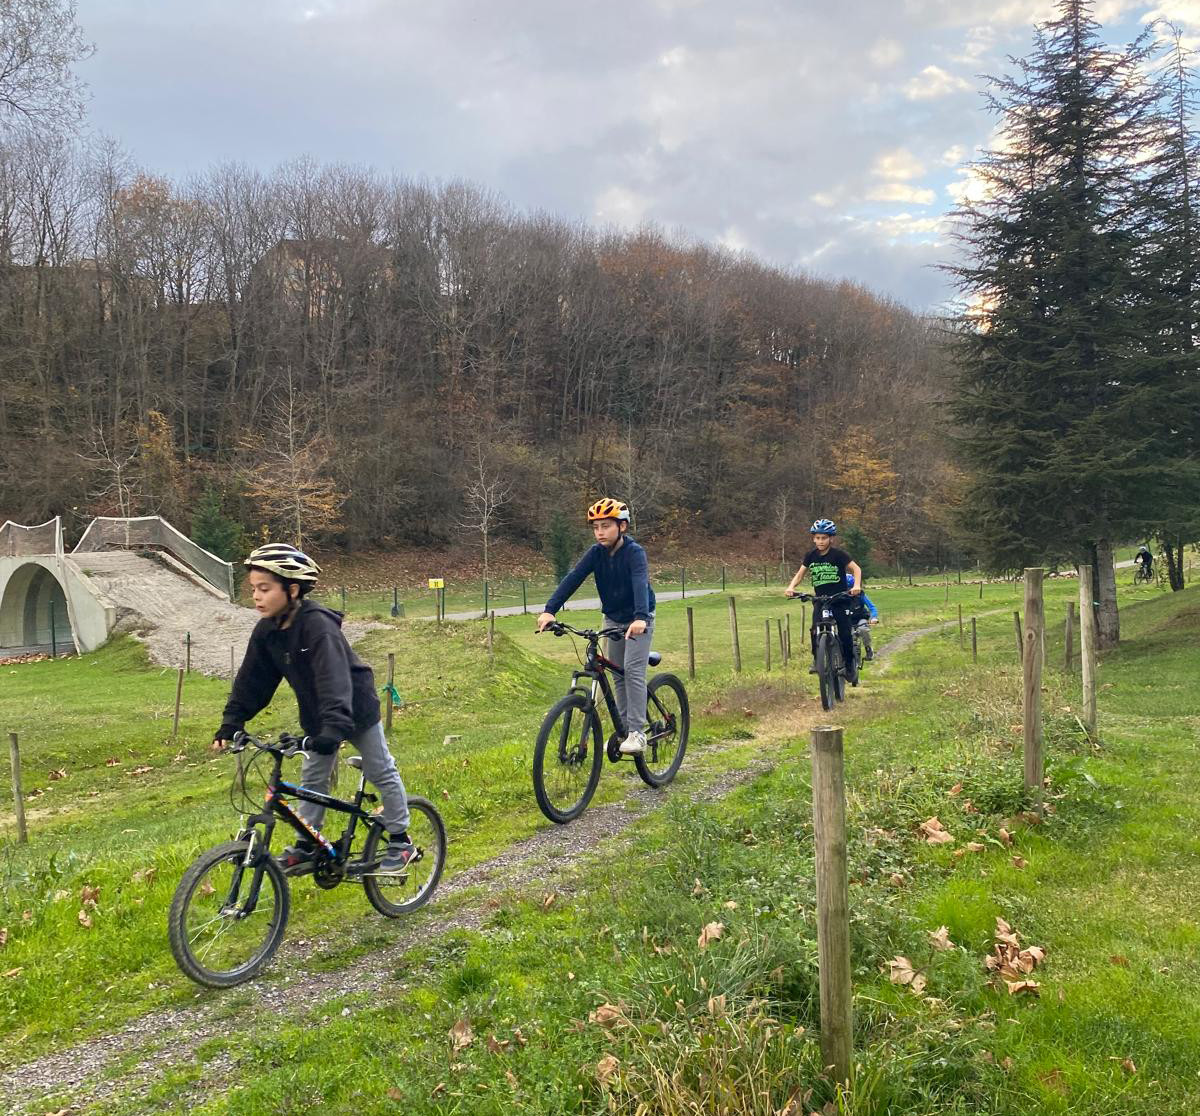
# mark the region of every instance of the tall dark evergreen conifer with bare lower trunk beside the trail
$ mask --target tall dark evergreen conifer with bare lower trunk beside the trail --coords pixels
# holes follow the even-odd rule
[[[971,480],[965,527],[992,566],[1092,562],[1100,644],[1118,636],[1111,542],[1146,523],[1169,473],[1145,424],[1139,202],[1154,149],[1144,36],[1099,38],[1061,0],[1013,76],[994,78],[983,198],[960,206],[971,312],[953,410]]]

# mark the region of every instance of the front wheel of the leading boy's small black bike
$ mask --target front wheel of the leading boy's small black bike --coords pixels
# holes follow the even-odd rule
[[[197,984],[232,988],[256,976],[283,941],[292,893],[269,854],[246,865],[248,841],[227,841],[184,872],[170,904],[170,952]]]

